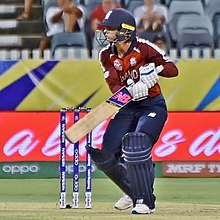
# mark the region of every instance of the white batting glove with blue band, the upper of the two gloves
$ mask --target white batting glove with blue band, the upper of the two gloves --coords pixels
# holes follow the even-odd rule
[[[158,73],[163,70],[163,66],[155,67],[155,63],[145,64],[139,68],[140,80],[150,89],[159,80]]]

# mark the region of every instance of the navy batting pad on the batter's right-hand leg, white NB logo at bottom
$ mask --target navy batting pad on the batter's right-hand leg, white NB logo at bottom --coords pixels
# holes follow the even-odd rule
[[[133,191],[134,204],[146,204],[154,208],[153,163],[151,145],[146,134],[128,133],[122,140],[122,150],[127,164],[129,182]]]

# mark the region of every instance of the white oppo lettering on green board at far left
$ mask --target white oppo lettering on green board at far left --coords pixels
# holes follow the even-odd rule
[[[3,172],[11,174],[37,173],[39,168],[37,165],[4,165]]]

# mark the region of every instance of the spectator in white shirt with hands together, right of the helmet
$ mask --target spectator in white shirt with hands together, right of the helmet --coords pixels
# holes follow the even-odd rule
[[[133,11],[137,31],[165,31],[167,23],[167,8],[155,4],[154,0],[144,0],[144,5],[138,6]]]

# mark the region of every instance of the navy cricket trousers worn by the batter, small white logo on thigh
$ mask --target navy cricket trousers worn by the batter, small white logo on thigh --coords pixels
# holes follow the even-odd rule
[[[167,119],[167,107],[162,94],[142,101],[131,101],[112,118],[103,136],[103,153],[122,155],[122,138],[128,132],[145,133],[153,147]]]

